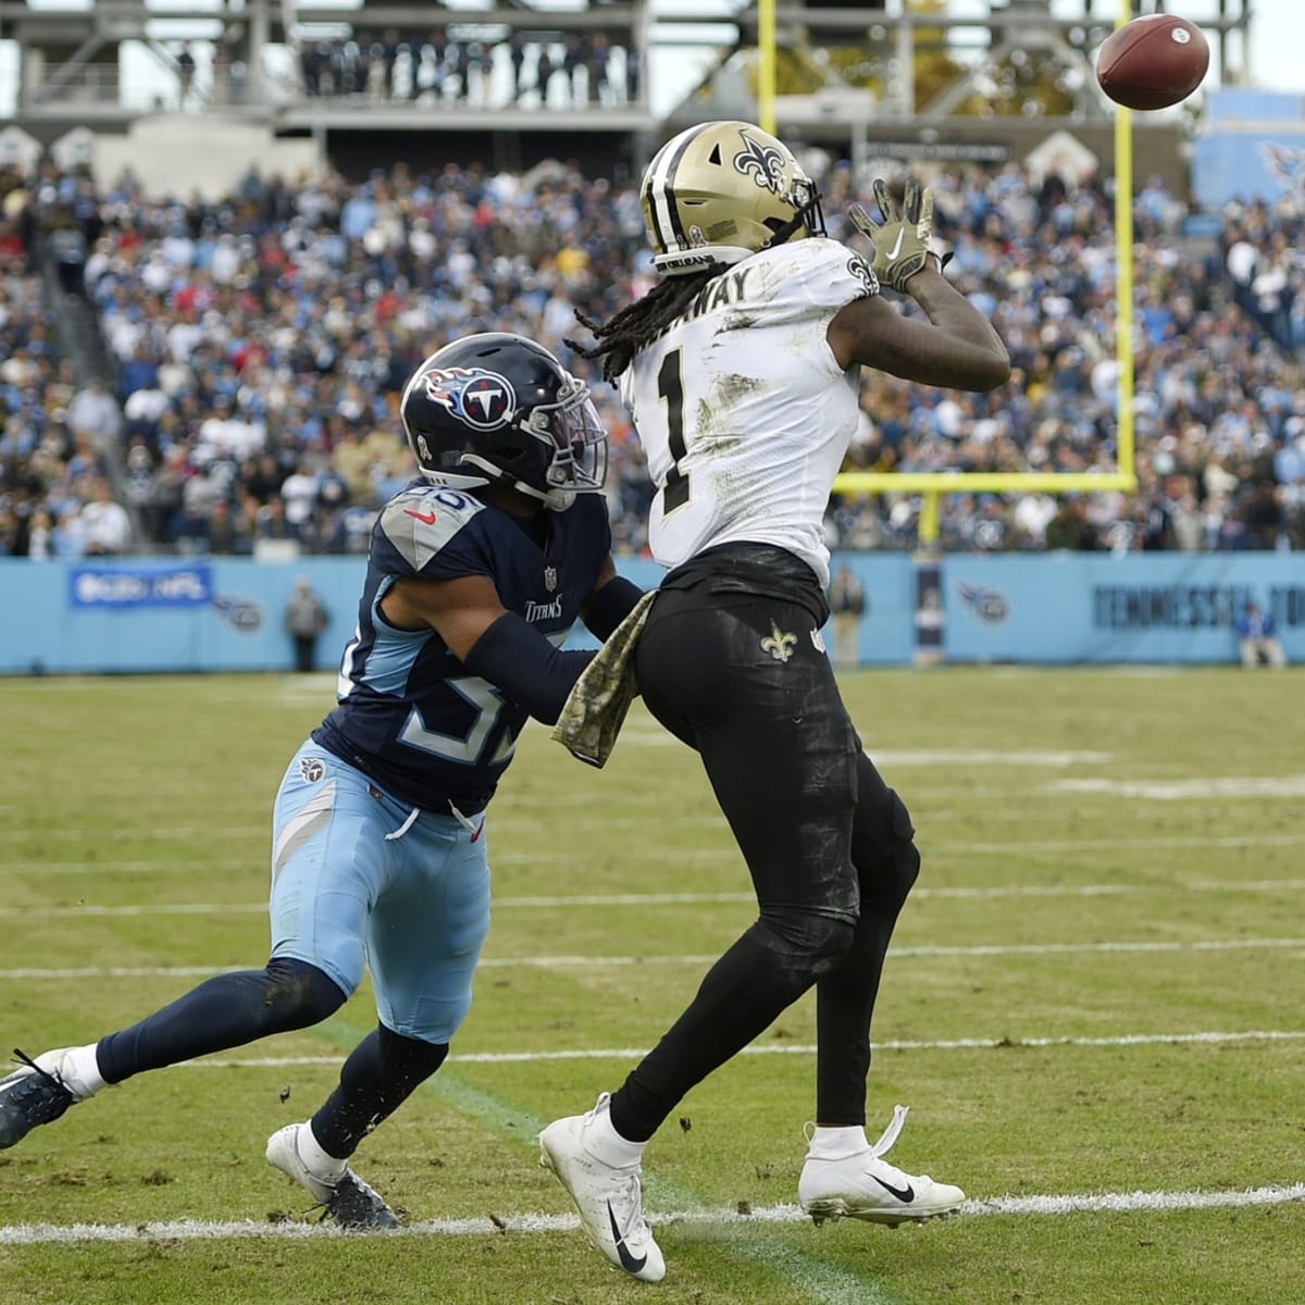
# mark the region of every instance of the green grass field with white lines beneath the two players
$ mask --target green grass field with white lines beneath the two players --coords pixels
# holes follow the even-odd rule
[[[364,990],[0,1152],[0,1302],[1305,1302],[1305,672],[844,686],[924,852],[869,1128],[911,1105],[893,1160],[960,1184],[959,1216],[799,1216],[803,1001],[649,1147],[666,1282],[585,1244],[536,1131],[619,1086],[752,917],[696,757],[637,706],[603,771],[527,729],[491,810],[471,1017],[355,1161],[403,1232],[324,1228],[262,1158],[373,1024]],[[264,962],[271,799],[333,692],[0,681],[0,1051],[93,1040]]]

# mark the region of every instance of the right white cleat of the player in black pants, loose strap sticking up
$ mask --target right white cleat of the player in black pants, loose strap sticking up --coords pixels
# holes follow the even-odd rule
[[[903,1173],[883,1156],[906,1124],[907,1108],[894,1107],[893,1122],[872,1147],[839,1160],[808,1152],[797,1182],[803,1211],[818,1224],[826,1219],[865,1219],[895,1227],[921,1223],[960,1208],[966,1194],[927,1173]]]

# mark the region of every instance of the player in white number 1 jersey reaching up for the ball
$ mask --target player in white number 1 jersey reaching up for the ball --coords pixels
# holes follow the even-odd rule
[[[904,1111],[865,1135],[870,1015],[920,855],[911,817],[861,748],[820,629],[829,609],[822,518],[857,420],[861,365],[974,392],[1006,381],[1006,348],[942,277],[932,196],[853,223],[873,262],[825,238],[816,187],[748,123],[681,132],[643,175],[662,281],[598,324],[656,484],[650,543],[669,568],[636,652],[639,692],[697,749],[748,863],[757,921],[613,1094],[540,1134],[586,1233],[655,1280],[641,1158],[680,1099],[817,992],[816,1125],[799,1181],[817,1223],[897,1224],[954,1211],[959,1188],[882,1159]],[[880,295],[910,296],[928,321]]]

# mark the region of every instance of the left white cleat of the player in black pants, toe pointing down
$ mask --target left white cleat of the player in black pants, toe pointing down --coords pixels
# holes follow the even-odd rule
[[[579,1212],[594,1249],[642,1283],[659,1283],[666,1261],[643,1218],[642,1165],[604,1164],[585,1144],[594,1120],[607,1112],[607,1092],[587,1114],[555,1120],[539,1134],[539,1163],[552,1169]]]

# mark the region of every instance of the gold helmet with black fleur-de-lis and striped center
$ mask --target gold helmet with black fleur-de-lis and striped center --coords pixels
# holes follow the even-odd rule
[[[668,277],[739,262],[784,239],[825,235],[820,193],[793,151],[752,123],[699,123],[658,150],[639,187],[643,222]]]

